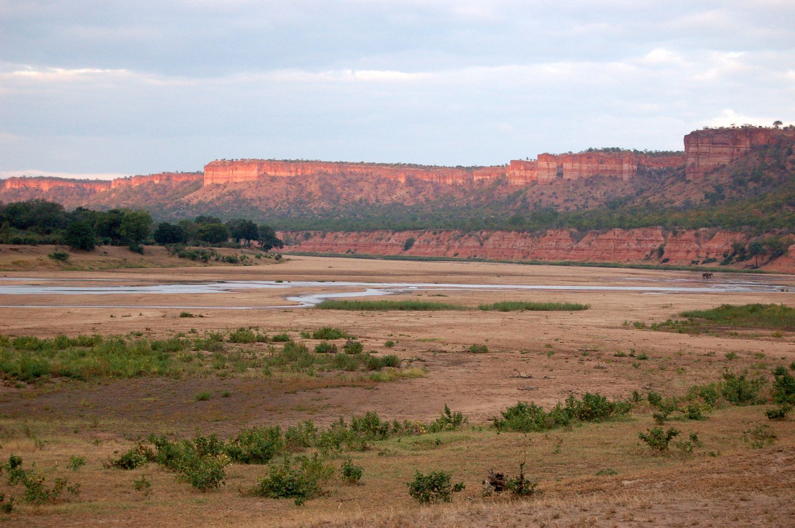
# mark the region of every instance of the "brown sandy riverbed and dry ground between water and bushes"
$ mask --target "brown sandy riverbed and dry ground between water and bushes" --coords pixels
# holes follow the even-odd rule
[[[359,282],[493,283],[570,286],[643,286],[661,281],[704,286],[700,273],[633,269],[527,266],[491,263],[408,262],[294,256],[277,265],[169,269],[118,269],[105,272],[2,272],[18,279],[102,279],[102,283],[153,284],[216,280],[325,280]],[[588,303],[578,312],[354,312],[292,308],[223,310],[211,306],[263,306],[285,303],[290,291],[248,290],[198,295],[0,295],[0,334],[52,337],[58,333],[126,334],[152,337],[177,333],[234,330],[258,326],[300,339],[301,330],[336,326],[363,341],[365,350],[395,353],[427,368],[427,376],[390,383],[360,383],[352,378],[285,383],[261,377],[102,380],[45,383],[0,388],[0,457],[22,453],[47,466],[72,452],[91,458],[91,478],[110,482],[108,496],[99,482],[83,484],[78,502],[20,508],[6,518],[10,526],[79,526],[112,522],[124,526],[792,526],[795,523],[795,433],[793,422],[770,422],[778,442],[749,450],[743,431],[763,423],[761,407],[716,411],[706,422],[684,424],[706,437],[704,453],[691,458],[652,457],[637,439],[653,426],[649,414],[627,421],[591,424],[545,434],[494,434],[486,422],[518,400],[552,406],[569,394],[599,391],[626,398],[633,391],[681,394],[694,383],[720,379],[727,369],[769,371],[795,361],[795,333],[774,337],[768,331],[731,335],[656,332],[634,322],[661,322],[682,310],[721,303],[795,304],[795,276],[715,274],[726,280],[770,283],[765,293],[709,292],[650,294],[640,291],[444,291],[423,290],[389,299],[425,299],[475,306],[500,300]],[[110,281],[110,282],[109,282]],[[6,283],[6,281],[0,281]],[[317,291],[322,291],[323,288]],[[331,290],[331,288],[329,288]],[[314,291],[314,290],[313,290]],[[336,289],[335,291],[339,291]],[[27,304],[70,307],[29,308]],[[83,308],[80,304],[124,305]],[[176,306],[158,308],[151,306]],[[149,306],[138,308],[136,306]],[[184,306],[203,317],[180,318]],[[394,341],[387,348],[386,341]],[[308,340],[308,344],[314,341]],[[487,353],[470,353],[470,345]],[[264,345],[263,345],[264,346]],[[619,356],[615,354],[619,353]],[[626,356],[622,356],[625,353]],[[731,354],[733,353],[733,354]],[[645,354],[648,359],[638,360]],[[729,354],[729,357],[727,357]],[[193,401],[198,391],[228,398]],[[241,426],[288,426],[312,418],[328,424],[340,415],[377,410],[390,419],[432,420],[445,404],[463,411],[471,424],[486,426],[443,434],[438,449],[413,440],[394,448],[405,456],[359,453],[367,484],[340,487],[297,508],[289,501],[251,499],[236,487],[254,481],[262,468],[237,467],[221,491],[200,494],[177,484],[158,469],[147,470],[158,490],[142,499],[130,488],[132,475],[103,470],[99,457],[126,449],[137,435],[153,430],[190,434],[231,434]],[[36,434],[21,434],[29,427]],[[52,447],[38,449],[33,437]],[[551,456],[557,438],[563,456]],[[92,441],[100,438],[103,445]],[[406,442],[409,444],[410,442]],[[439,445],[438,443],[436,445]],[[524,447],[519,447],[524,445]],[[529,447],[528,447],[529,445]],[[380,448],[379,448],[380,449]],[[544,495],[529,502],[483,499],[479,479],[489,464],[518,464],[522,449],[541,477]],[[404,453],[405,451],[405,453]],[[715,457],[708,455],[712,451]],[[414,507],[405,493],[415,467],[460,468],[465,497],[452,505]],[[605,465],[618,476],[593,476]],[[789,472],[784,471],[789,468]],[[86,470],[88,471],[88,470]],[[89,473],[87,473],[89,474]],[[138,473],[136,473],[138,475]],[[80,472],[75,473],[75,478]],[[396,483],[397,482],[397,490]],[[179,515],[174,512],[179,511]]]

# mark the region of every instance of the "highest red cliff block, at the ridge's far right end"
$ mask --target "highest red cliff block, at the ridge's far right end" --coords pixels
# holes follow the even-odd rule
[[[706,129],[684,137],[684,172],[688,178],[745,156],[754,147],[795,141],[795,129]]]

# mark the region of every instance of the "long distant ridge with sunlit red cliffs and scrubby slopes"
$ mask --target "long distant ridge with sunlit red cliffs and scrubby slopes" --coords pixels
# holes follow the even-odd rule
[[[540,154],[487,168],[222,160],[103,184],[6,180],[0,201],[246,217],[278,229],[795,229],[795,129],[688,134],[683,152]]]

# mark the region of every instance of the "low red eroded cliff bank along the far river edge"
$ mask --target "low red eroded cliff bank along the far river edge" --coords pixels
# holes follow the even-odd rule
[[[308,233],[308,234],[307,234]],[[285,251],[362,253],[369,255],[450,256],[494,260],[570,260],[657,264],[657,248],[669,264],[700,264],[721,260],[735,241],[747,242],[743,233],[696,229],[665,233],[658,227],[591,231],[584,237],[569,229],[549,229],[544,234],[514,231],[370,231],[285,232]],[[409,238],[413,245],[405,250]]]

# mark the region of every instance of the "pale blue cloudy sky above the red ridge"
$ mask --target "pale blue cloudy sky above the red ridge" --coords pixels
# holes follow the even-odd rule
[[[793,0],[0,0],[0,177],[506,164],[774,120]]]

